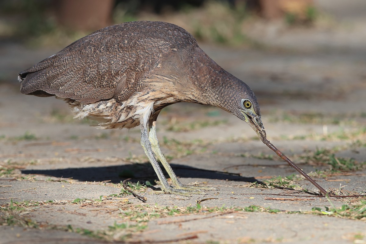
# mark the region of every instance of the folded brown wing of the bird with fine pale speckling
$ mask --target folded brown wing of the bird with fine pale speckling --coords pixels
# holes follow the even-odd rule
[[[160,54],[168,51],[168,45],[151,38],[130,38],[127,42],[124,37],[101,31],[81,38],[20,72],[20,92],[57,95],[82,103],[112,97],[126,100],[141,89],[139,80],[158,66]]]

